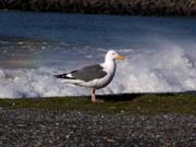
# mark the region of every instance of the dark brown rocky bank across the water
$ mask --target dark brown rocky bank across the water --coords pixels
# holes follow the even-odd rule
[[[0,0],[0,9],[130,15],[196,15],[196,0]]]

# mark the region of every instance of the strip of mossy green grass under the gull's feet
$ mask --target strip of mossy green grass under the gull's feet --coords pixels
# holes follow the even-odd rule
[[[89,97],[0,99],[3,109],[44,109],[86,111],[89,113],[158,114],[180,113],[196,115],[196,95],[133,94],[98,96],[105,102],[91,103]]]

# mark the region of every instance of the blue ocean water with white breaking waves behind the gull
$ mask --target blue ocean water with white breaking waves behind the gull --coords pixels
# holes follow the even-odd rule
[[[52,75],[126,57],[98,94],[196,90],[196,19],[0,12],[0,98],[89,95]]]

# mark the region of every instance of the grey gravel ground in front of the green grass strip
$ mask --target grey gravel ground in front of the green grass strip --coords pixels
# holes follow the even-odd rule
[[[1,147],[196,147],[196,117],[0,110]]]

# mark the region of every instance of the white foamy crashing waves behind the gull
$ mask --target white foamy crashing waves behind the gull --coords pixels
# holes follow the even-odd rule
[[[126,54],[127,60],[118,62],[114,79],[98,94],[196,90],[194,48],[167,44],[158,50],[119,51]],[[89,89],[61,83],[52,76],[62,72],[62,68],[1,69],[0,98],[89,95]]]

